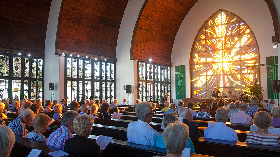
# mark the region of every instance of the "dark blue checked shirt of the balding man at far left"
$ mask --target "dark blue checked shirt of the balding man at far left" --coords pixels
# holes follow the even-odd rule
[[[14,119],[12,122],[8,124],[8,127],[12,129],[12,131],[17,136],[21,136],[26,138],[28,134],[28,130],[25,127],[25,123],[18,117]]]

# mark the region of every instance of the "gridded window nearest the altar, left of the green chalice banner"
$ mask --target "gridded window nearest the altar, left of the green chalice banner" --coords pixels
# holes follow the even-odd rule
[[[163,93],[171,97],[170,67],[138,62],[138,99],[140,101],[163,101]]]

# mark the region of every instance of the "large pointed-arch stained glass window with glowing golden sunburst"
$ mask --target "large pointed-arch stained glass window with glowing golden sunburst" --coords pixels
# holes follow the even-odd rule
[[[259,48],[249,26],[238,16],[219,10],[199,30],[191,53],[192,97],[209,98],[217,87],[222,96],[239,97],[253,84]],[[260,82],[259,70],[256,72]]]

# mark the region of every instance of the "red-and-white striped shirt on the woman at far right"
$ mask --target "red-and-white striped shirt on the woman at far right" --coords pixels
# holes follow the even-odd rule
[[[247,143],[279,146],[280,136],[277,134],[261,134],[249,132],[246,137]]]

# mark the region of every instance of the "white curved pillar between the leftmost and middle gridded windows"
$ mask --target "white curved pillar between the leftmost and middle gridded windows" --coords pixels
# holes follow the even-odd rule
[[[53,100],[59,100],[59,60],[55,51],[56,30],[58,24],[58,16],[62,0],[54,0],[51,3],[49,11],[49,19],[47,25],[46,42],[45,42],[45,78],[44,78],[44,99],[51,100],[51,90],[49,90],[49,82],[54,82]],[[63,75],[64,77],[64,75]],[[64,86],[63,86],[64,87]],[[63,90],[63,88],[60,88]],[[58,101],[59,102],[59,101]]]

